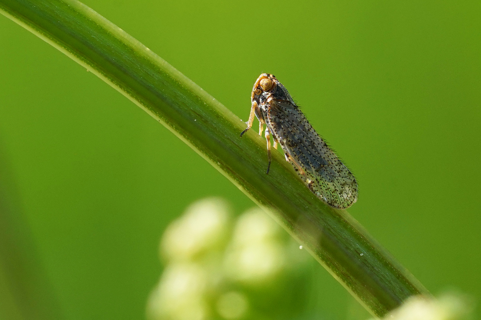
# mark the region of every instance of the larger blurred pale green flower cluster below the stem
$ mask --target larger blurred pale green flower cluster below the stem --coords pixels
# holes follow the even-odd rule
[[[302,309],[309,255],[260,209],[233,218],[225,201],[192,204],[161,240],[165,269],[151,320],[292,319]],[[301,272],[302,273],[302,272]]]

